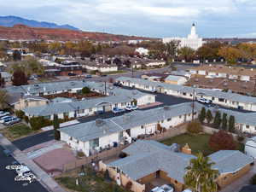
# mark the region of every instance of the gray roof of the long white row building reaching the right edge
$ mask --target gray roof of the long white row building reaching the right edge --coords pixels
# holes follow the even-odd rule
[[[228,93],[223,92],[219,90],[207,90],[207,89],[201,89],[201,88],[192,88],[188,86],[183,85],[177,85],[177,84],[166,84],[161,82],[152,82],[145,79],[135,79],[135,78],[128,78],[128,77],[119,77],[116,79],[117,81],[130,81],[131,83],[136,84],[145,84],[150,85],[153,87],[163,87],[168,90],[177,90],[179,92],[186,92],[186,93],[193,93],[195,90],[196,94],[201,94],[205,96],[214,96],[216,98],[223,98],[228,99],[233,102],[246,102],[246,103],[256,103],[256,97],[253,96],[242,96],[236,93]]]

